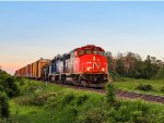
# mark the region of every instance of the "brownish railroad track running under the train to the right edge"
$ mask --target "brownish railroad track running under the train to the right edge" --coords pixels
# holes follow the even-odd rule
[[[86,87],[63,85],[63,84],[56,84],[56,85],[70,87],[70,88],[74,88],[74,89],[90,90],[90,91],[105,94],[105,89],[86,88]],[[164,96],[153,96],[153,95],[148,95],[148,94],[130,93],[130,91],[122,91],[122,90],[116,90],[116,96],[121,97],[121,98],[130,98],[130,99],[139,98],[142,100],[160,102],[160,103],[164,104]]]

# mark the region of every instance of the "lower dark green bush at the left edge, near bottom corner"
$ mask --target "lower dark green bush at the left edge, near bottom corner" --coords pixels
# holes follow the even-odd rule
[[[4,94],[0,93],[0,118],[9,116],[9,103]]]

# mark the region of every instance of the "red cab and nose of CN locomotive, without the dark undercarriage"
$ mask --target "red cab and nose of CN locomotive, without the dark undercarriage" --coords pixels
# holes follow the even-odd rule
[[[85,47],[78,51],[80,73],[107,73],[105,51],[99,47]]]

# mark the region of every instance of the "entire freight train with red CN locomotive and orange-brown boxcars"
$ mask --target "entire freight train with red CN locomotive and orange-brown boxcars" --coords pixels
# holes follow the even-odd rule
[[[108,82],[105,50],[94,45],[58,54],[52,60],[39,59],[15,71],[20,77],[44,79],[87,87],[104,87]]]

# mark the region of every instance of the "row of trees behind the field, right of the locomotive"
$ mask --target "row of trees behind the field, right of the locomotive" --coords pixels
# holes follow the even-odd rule
[[[145,60],[133,52],[118,53],[117,57],[107,52],[107,56],[108,71],[113,78],[121,76],[150,79],[164,69],[164,62],[151,56]]]

